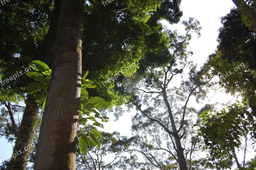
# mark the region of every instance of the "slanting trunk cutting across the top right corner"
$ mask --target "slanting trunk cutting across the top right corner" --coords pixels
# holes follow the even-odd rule
[[[253,21],[254,23],[252,24],[251,28],[252,31],[256,34],[256,15],[255,13],[252,11],[252,9],[245,3],[244,0],[232,0],[233,3],[236,5],[236,7],[239,9],[239,7],[241,6],[241,4],[244,4],[243,10],[240,10],[240,13],[242,15],[246,15],[248,17],[248,20]]]

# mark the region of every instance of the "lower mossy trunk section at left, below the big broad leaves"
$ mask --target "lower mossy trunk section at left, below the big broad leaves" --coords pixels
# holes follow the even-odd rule
[[[23,113],[20,128],[15,141],[15,146],[13,148],[13,157],[8,164],[8,169],[26,169],[29,151],[33,142],[37,118],[37,104],[35,102],[35,99],[33,99],[33,95],[28,95],[26,100],[26,108]]]

